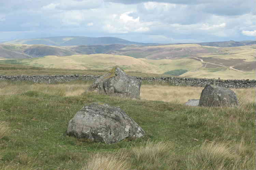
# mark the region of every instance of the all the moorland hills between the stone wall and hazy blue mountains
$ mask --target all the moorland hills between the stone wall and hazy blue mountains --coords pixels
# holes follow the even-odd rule
[[[255,79],[255,53],[255,45],[240,47],[210,47],[198,44],[144,47],[136,45],[56,47],[2,44],[0,45],[0,64],[71,70],[109,70],[119,65],[125,71],[141,74],[168,73],[167,76],[179,75],[194,78]],[[48,55],[44,56],[46,54]],[[6,58],[14,60],[4,60]],[[186,71],[180,74],[177,73],[179,70]]]

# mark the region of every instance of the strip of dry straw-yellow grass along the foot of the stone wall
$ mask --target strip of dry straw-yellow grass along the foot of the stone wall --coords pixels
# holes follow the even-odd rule
[[[40,91],[49,95],[80,96],[87,91],[92,82],[74,82],[68,84],[15,84],[0,81],[0,95],[22,94],[27,91]],[[164,101],[176,104],[184,104],[189,99],[199,99],[203,87],[184,87],[169,85],[142,84],[140,98],[142,100]],[[232,89],[239,102],[255,102],[255,88]]]

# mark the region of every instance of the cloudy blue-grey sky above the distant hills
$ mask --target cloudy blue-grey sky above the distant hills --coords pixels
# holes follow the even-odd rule
[[[114,36],[143,43],[254,40],[255,0],[0,0],[0,41]]]

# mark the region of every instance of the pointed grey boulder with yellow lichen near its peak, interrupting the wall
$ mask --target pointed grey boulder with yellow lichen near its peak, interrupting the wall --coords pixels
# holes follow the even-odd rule
[[[128,76],[122,68],[115,66],[95,80],[88,90],[105,95],[139,99],[140,86],[140,80]]]

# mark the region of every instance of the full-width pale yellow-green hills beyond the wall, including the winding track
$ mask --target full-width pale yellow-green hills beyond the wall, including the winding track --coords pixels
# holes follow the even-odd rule
[[[109,70],[113,66],[119,65],[125,71],[166,74],[167,76],[180,75],[181,77],[192,78],[217,79],[220,77],[221,79],[255,79],[256,61],[253,56],[255,50],[253,50],[253,46],[244,46],[242,49],[236,48],[226,51],[226,53],[229,52],[230,54],[200,54],[197,57],[186,57],[175,60],[148,60],[146,58],[112,54],[50,55],[23,60],[0,60],[0,64],[82,70]],[[222,55],[225,55],[225,57]],[[180,71],[182,71],[181,74],[177,74]]]

